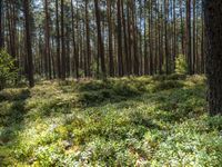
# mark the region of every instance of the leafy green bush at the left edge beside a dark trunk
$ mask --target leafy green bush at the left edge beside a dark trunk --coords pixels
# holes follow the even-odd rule
[[[6,50],[0,50],[0,90],[10,81],[13,81],[16,77],[14,60]]]

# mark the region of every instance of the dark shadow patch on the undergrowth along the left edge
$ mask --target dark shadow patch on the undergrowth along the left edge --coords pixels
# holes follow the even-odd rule
[[[19,91],[19,92],[18,92]],[[26,100],[30,97],[29,89],[11,89],[10,92],[0,92],[0,147],[10,145],[17,139],[18,131],[23,129],[23,120],[26,115]],[[0,161],[9,155],[0,151]]]

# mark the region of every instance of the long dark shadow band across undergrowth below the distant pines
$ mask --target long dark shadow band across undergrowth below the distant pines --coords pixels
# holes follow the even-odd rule
[[[181,80],[178,80],[181,79]],[[61,85],[62,92],[78,92],[78,101],[82,106],[95,107],[135,99],[144,94],[182,88],[183,75],[114,78],[108,80],[90,80],[74,85]]]

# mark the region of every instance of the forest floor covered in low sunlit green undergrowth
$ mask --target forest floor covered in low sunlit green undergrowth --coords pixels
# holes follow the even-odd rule
[[[214,166],[203,76],[40,81],[0,92],[0,166]]]

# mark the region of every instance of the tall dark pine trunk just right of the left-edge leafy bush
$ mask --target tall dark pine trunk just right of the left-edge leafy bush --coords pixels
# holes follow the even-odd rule
[[[26,47],[27,47],[27,61],[28,61],[28,79],[29,79],[29,86],[32,88],[34,86],[34,77],[33,77],[33,60],[32,60],[32,51],[31,51],[29,6],[30,6],[29,0],[23,0],[24,24],[26,24]]]

